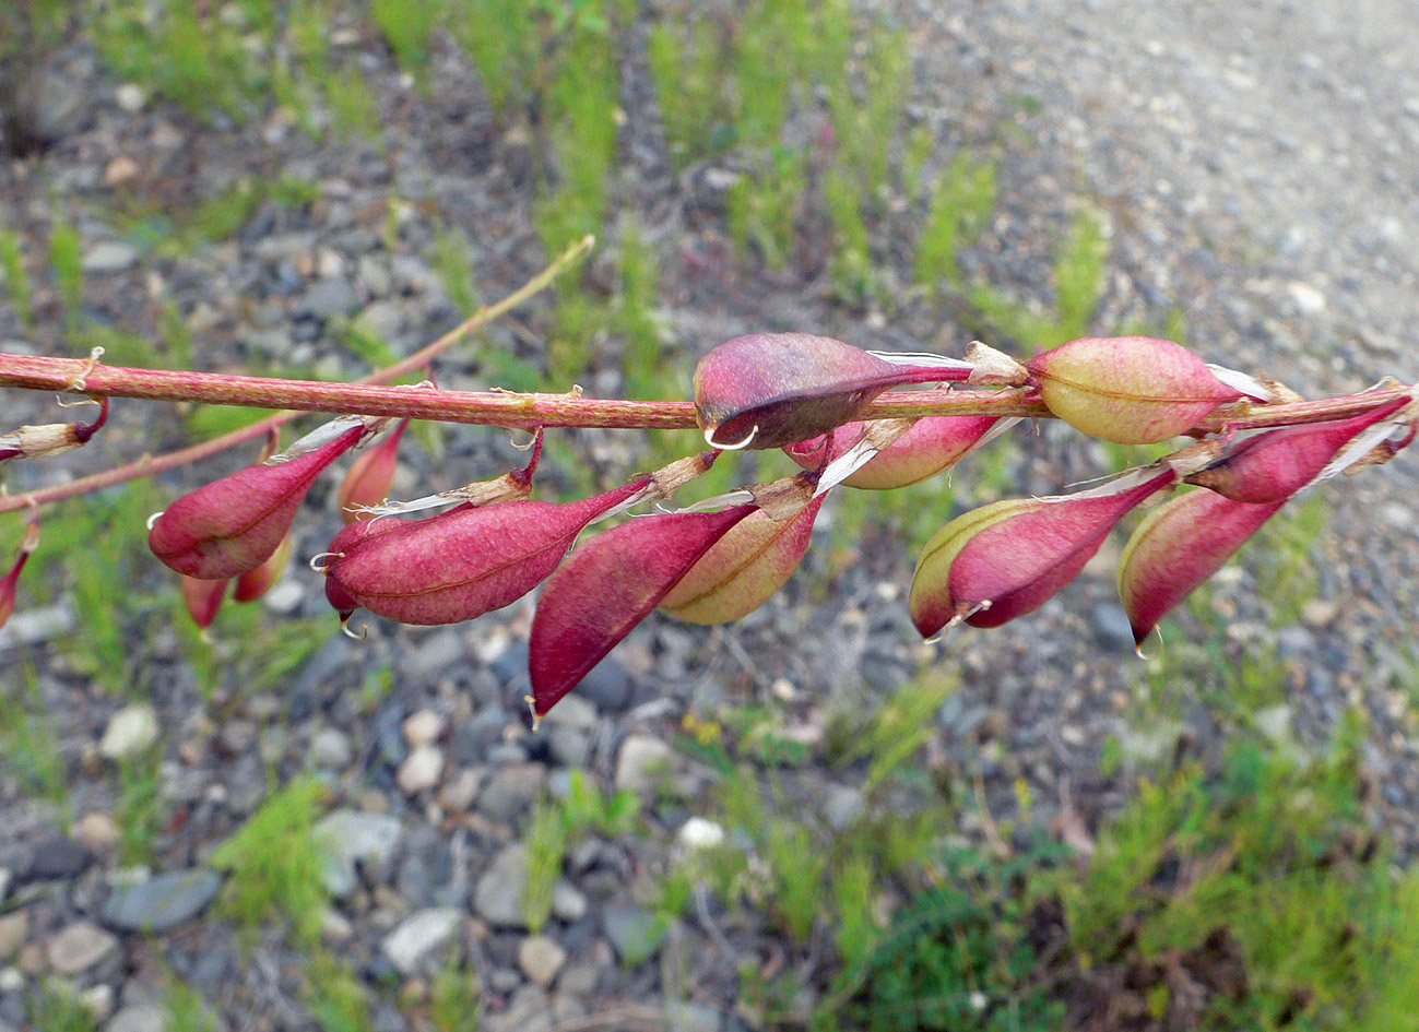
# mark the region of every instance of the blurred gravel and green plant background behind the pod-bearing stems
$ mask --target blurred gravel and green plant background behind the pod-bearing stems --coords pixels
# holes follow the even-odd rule
[[[1017,356],[1148,334],[1416,379],[1405,0],[6,0],[0,351],[348,379],[583,234],[436,365],[685,397],[751,331]],[[70,419],[4,396],[0,424]],[[261,413],[115,405],[10,493]],[[314,420],[307,420],[314,424]],[[558,432],[539,497],[694,434]],[[531,602],[339,635],[307,559],[207,633],[145,520],[44,514],[0,630],[0,1032],[1392,1029],[1419,1008],[1415,463],[1293,503],[1138,660],[1110,542],[924,646],[951,517],[1148,450],[1022,426],[840,491],[736,625],[653,616],[538,734]],[[724,461],[695,490],[782,476]],[[396,497],[492,477],[416,427]],[[10,555],[24,529],[0,520]]]

